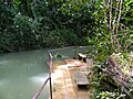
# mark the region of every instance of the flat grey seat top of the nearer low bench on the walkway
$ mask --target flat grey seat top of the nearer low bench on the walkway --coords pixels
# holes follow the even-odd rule
[[[82,72],[74,72],[74,79],[75,79],[75,82],[76,82],[78,86],[80,86],[80,85],[84,85],[84,86],[89,85],[88,77]]]

